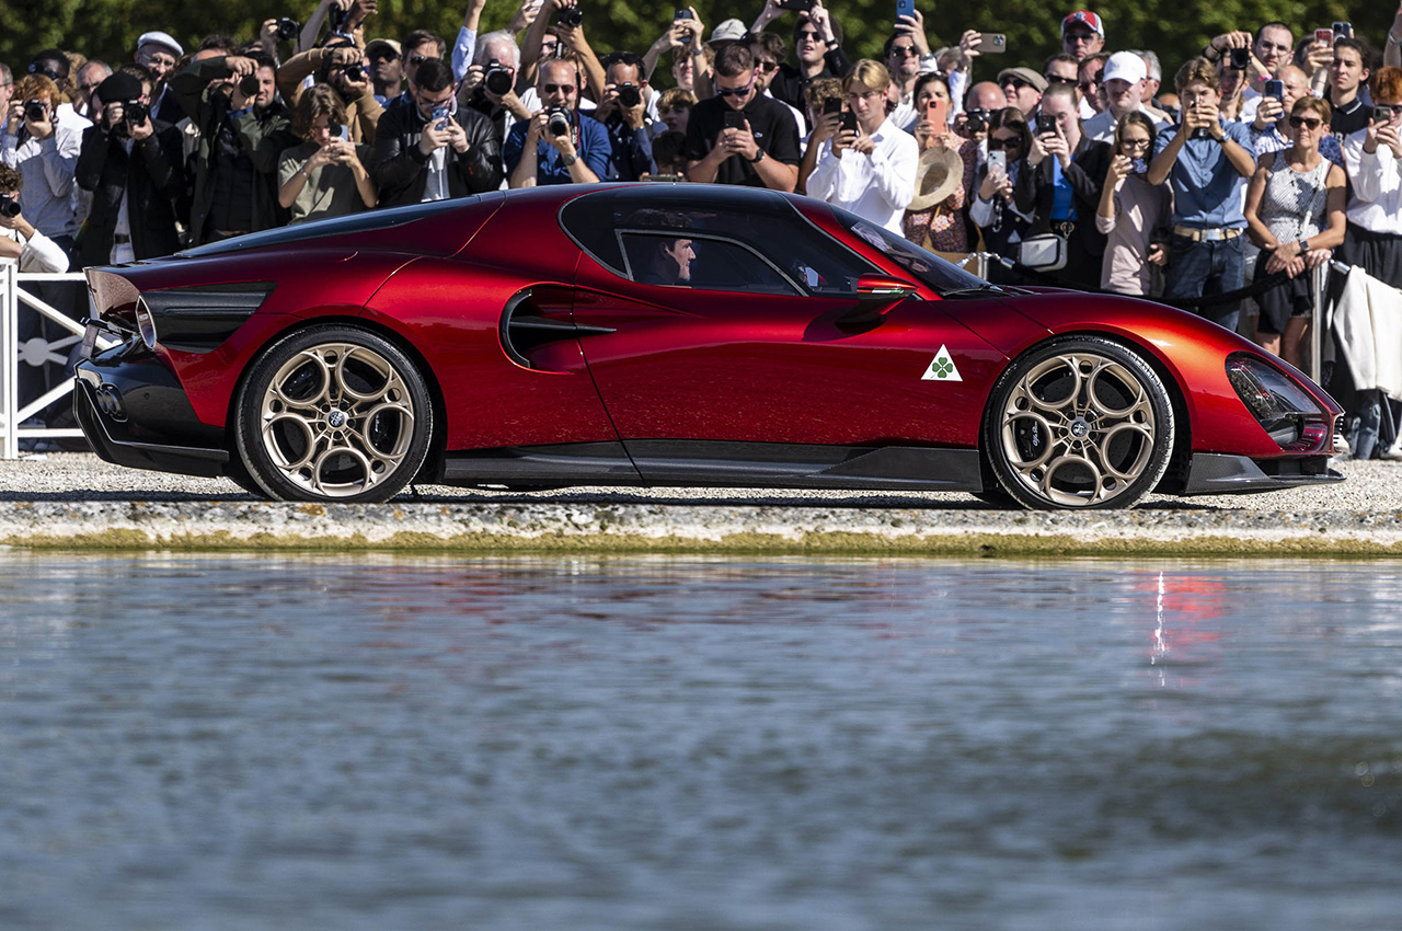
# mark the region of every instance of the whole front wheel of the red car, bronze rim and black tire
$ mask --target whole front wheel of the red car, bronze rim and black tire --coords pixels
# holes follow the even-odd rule
[[[1008,495],[1037,510],[1129,508],[1173,451],[1173,404],[1133,349],[1053,339],[1018,358],[988,398],[983,446]]]

